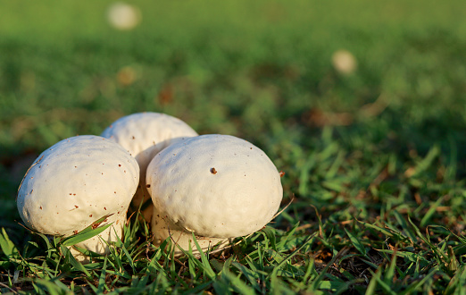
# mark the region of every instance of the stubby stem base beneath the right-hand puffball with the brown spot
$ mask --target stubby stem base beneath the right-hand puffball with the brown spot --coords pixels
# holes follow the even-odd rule
[[[191,232],[182,230],[174,223],[171,223],[162,218],[156,209],[154,209],[154,215],[152,216],[152,232],[154,233],[153,243],[155,246],[160,246],[164,240],[171,238],[175,257],[182,256],[184,253],[181,249],[186,252],[189,251],[189,247],[192,249],[192,253],[196,256],[200,255],[199,250],[196,248],[196,244],[193,240]],[[212,250],[219,251],[221,249],[226,249],[231,245],[231,239],[229,238],[208,238],[196,236],[197,244],[203,251]],[[179,249],[181,248],[181,249]],[[166,251],[171,250],[166,248]]]

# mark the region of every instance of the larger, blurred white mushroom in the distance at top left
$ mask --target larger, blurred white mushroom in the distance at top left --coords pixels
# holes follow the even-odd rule
[[[135,6],[117,2],[109,7],[107,18],[113,28],[131,30],[141,21],[141,12]]]

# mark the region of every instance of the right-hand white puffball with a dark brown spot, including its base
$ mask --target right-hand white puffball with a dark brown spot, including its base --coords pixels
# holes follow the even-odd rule
[[[201,135],[166,147],[147,167],[154,201],[154,244],[171,237],[205,250],[262,229],[277,213],[283,189],[270,158],[229,135]],[[175,249],[175,255],[182,252]]]

